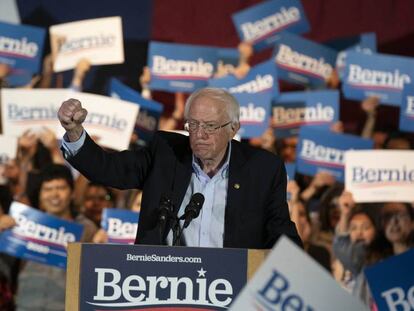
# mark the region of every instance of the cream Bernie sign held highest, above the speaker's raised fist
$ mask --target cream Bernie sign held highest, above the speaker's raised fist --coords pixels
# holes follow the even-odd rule
[[[56,56],[53,70],[76,67],[83,58],[92,65],[124,62],[122,20],[119,16],[88,19],[50,27],[50,44]]]

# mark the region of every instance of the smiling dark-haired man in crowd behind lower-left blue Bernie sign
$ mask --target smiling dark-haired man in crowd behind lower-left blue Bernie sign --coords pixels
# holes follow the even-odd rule
[[[92,241],[97,228],[72,206],[73,177],[70,170],[61,164],[51,164],[41,170],[39,207],[45,213],[84,226],[82,242]],[[5,217],[10,228],[15,223]],[[18,275],[16,294],[17,310],[43,311],[65,309],[66,272],[33,261],[22,262]]]

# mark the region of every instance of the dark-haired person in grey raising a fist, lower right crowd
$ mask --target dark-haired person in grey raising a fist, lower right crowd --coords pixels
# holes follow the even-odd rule
[[[368,306],[373,305],[363,268],[390,255],[374,206],[356,206],[352,193],[339,198],[341,215],[336,226],[333,252],[344,267],[342,285]]]

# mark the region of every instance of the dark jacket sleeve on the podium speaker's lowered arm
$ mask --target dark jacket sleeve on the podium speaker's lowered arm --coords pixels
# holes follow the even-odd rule
[[[295,224],[290,220],[286,200],[287,175],[285,165],[278,161],[278,168],[273,178],[266,203],[267,247],[273,247],[280,236],[286,235],[294,243],[303,248],[302,240]]]

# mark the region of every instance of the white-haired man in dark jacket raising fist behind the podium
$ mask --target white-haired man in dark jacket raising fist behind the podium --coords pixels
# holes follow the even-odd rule
[[[87,111],[69,99],[58,111],[66,130],[62,150],[94,182],[143,189],[136,243],[172,244],[174,216],[201,193],[205,203],[184,230],[186,245],[263,249],[283,234],[302,245],[289,218],[283,162],[232,139],[240,128],[239,109],[227,91],[203,88],[185,105],[188,137],[160,131],[146,148],[107,153],[82,126]],[[173,214],[165,230],[159,230],[161,199],[168,199]]]

